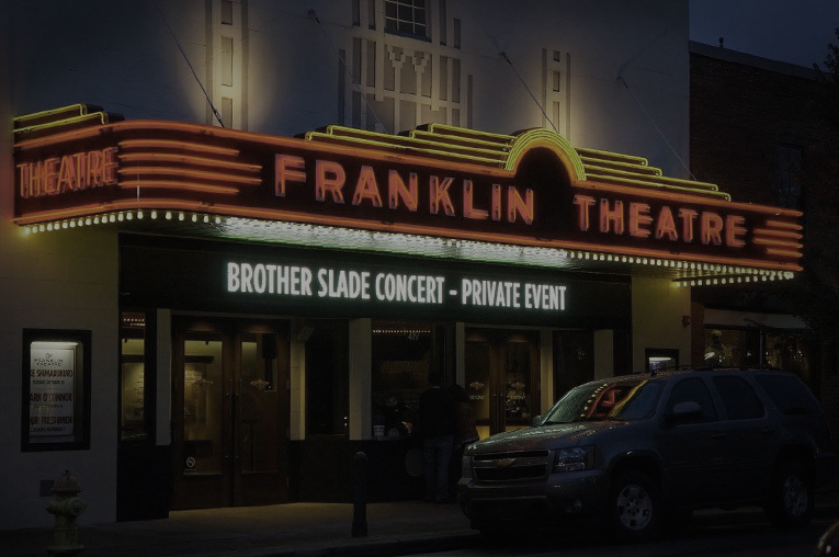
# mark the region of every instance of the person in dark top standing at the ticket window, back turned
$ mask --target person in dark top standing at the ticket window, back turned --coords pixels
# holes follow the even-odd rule
[[[422,434],[426,501],[449,501],[449,464],[454,442],[454,399],[442,388],[440,375],[429,376],[431,387],[420,395],[419,424]]]

